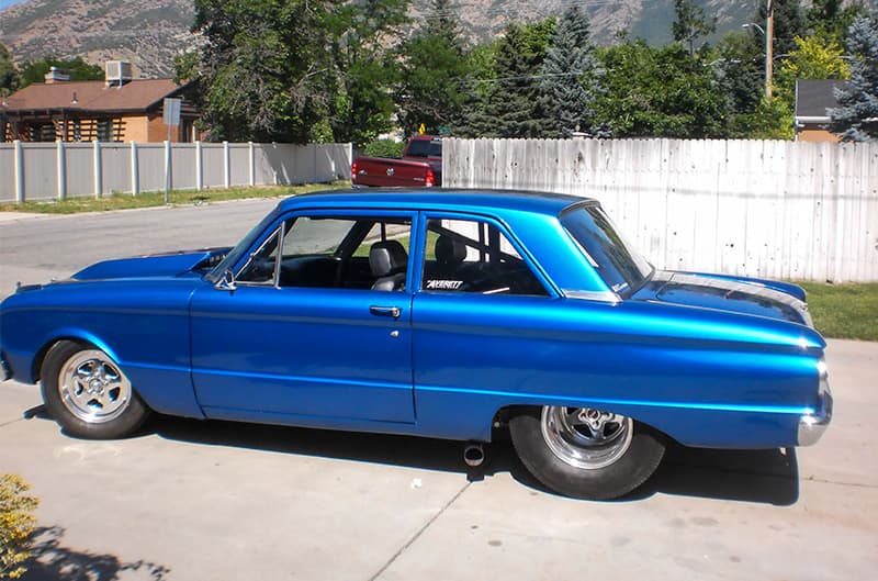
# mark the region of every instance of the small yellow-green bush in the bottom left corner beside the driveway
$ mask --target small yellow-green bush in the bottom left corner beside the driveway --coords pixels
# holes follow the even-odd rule
[[[0,476],[0,579],[18,579],[31,557],[27,544],[36,526],[33,511],[37,499],[26,494],[30,487],[15,474]]]

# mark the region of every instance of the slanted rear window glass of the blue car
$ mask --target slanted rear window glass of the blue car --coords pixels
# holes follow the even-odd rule
[[[573,206],[561,215],[561,223],[614,292],[629,295],[652,275],[652,265],[633,249],[599,205]]]

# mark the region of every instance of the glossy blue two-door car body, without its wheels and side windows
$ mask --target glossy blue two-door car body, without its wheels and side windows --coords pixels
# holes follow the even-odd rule
[[[491,191],[291,198],[234,249],[110,260],[21,288],[0,308],[2,358],[36,382],[55,343],[86,342],[149,407],[194,418],[488,442],[504,410],[556,405],[623,414],[689,446],[813,442],[831,396],[803,291],[658,270],[615,287],[564,222],[584,204],[598,205]],[[223,284],[303,214],[410,223],[408,281],[425,280],[428,221],[479,220],[544,292]]]

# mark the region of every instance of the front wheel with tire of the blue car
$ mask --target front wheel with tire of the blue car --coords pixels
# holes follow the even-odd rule
[[[119,438],[137,429],[149,409],[104,351],[69,340],[56,344],[42,369],[43,401],[70,435]]]

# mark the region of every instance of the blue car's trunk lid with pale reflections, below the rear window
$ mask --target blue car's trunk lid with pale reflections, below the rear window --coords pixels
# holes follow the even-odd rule
[[[633,298],[766,316],[813,327],[804,291],[785,282],[660,270]]]

